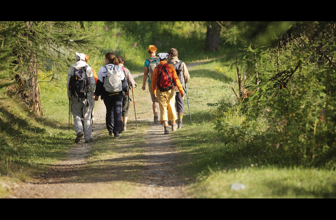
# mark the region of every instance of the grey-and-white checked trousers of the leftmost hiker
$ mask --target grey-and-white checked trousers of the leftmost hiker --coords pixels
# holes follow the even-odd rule
[[[74,125],[76,134],[80,131],[84,132],[85,141],[89,140],[92,133],[91,128],[91,98],[85,99],[80,98],[79,102],[76,97],[71,97],[71,113],[74,117]],[[89,103],[89,106],[86,106],[86,103]],[[84,128],[81,121],[81,118],[84,117]]]

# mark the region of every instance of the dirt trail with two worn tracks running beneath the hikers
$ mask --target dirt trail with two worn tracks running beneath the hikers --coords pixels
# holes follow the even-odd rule
[[[195,65],[188,65],[188,69]],[[133,77],[141,77],[142,73],[134,74]],[[149,94],[148,94],[149,95]],[[95,122],[92,137],[107,135],[99,134],[106,130],[106,108],[102,101],[95,103]],[[160,112],[158,113],[160,115]],[[153,116],[145,121],[153,123]],[[134,190],[131,198],[187,198],[184,192],[183,180],[176,173],[177,154],[171,142],[171,134],[163,135],[162,125],[152,124],[146,134],[147,141],[143,159],[144,169],[139,172],[139,180],[132,185]],[[164,144],[162,144],[164,143]],[[86,158],[90,155],[90,146],[82,139],[79,144],[68,152],[68,158],[52,166],[48,172],[41,174],[36,180],[29,183],[8,183],[12,192],[11,198],[69,198],[69,197],[113,197],[108,190],[108,183],[89,182],[79,183],[78,173],[85,171]],[[126,174],[125,174],[126,175]],[[99,189],[99,190],[97,190]],[[99,191],[97,193],[97,191]]]

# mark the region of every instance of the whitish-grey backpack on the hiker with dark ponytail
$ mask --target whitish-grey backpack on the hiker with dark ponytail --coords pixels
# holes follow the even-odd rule
[[[104,79],[104,85],[103,85],[105,90],[110,93],[121,92],[122,90],[121,74],[124,74],[124,73],[122,73],[119,70],[119,66],[115,66],[115,67],[118,67],[117,70],[115,69],[115,67],[111,67],[111,69],[109,69],[106,66],[104,67],[107,69],[107,73],[106,73],[106,77]]]

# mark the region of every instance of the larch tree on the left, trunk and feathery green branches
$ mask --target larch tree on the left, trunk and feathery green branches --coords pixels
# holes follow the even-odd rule
[[[52,66],[53,76],[65,72],[76,51],[94,53],[91,29],[78,21],[1,21],[2,45],[11,50],[7,70],[20,98],[35,116],[43,116],[38,70]]]

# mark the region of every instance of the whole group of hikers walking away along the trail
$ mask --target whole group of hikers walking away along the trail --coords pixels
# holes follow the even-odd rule
[[[171,48],[168,53],[158,53],[154,45],[148,47],[150,58],[144,62],[142,89],[148,87],[153,102],[154,124],[162,123],[164,134],[183,128],[184,113],[184,85],[190,75],[184,62],[180,61],[177,50]],[[119,138],[122,131],[126,131],[127,118],[130,107],[129,89],[136,84],[129,70],[124,67],[124,58],[114,53],[105,54],[105,64],[98,75],[87,64],[89,56],[76,52],[76,62],[68,71],[68,98],[71,103],[71,113],[74,117],[76,131],[75,142],[84,136],[85,142],[93,140],[92,123],[94,121],[94,101],[103,100],[106,106],[106,127],[109,135]],[[169,59],[169,61],[168,61]],[[176,111],[175,112],[175,102]],[[158,103],[160,107],[160,121],[158,119]],[[176,120],[178,119],[178,124]]]

